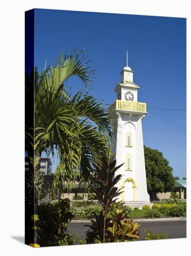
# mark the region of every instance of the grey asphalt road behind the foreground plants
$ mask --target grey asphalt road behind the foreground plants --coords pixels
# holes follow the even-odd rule
[[[145,240],[145,229],[151,229],[154,233],[166,233],[167,238],[185,238],[186,221],[166,221],[166,222],[138,222],[140,224],[140,240]],[[89,224],[89,223],[87,223]],[[84,227],[85,223],[69,223],[68,230],[71,235],[73,232],[85,240],[85,231],[89,228]]]

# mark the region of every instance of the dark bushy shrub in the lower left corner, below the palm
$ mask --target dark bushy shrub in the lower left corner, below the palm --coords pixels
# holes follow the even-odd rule
[[[38,205],[38,227],[40,246],[67,245],[70,236],[67,225],[74,217],[70,212],[70,199],[59,199],[55,203]]]

